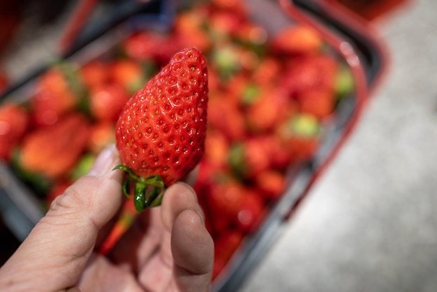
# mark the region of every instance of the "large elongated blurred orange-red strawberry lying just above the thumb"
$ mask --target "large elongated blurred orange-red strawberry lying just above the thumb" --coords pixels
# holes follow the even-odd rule
[[[67,115],[53,125],[29,133],[24,138],[17,162],[30,173],[61,177],[75,165],[88,139],[87,119],[80,114]]]

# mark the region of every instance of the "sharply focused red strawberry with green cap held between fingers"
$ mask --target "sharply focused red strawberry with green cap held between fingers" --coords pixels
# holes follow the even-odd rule
[[[195,48],[184,49],[122,110],[115,139],[123,164],[116,168],[129,174],[124,184],[126,196],[130,196],[131,182],[135,185],[138,211],[159,205],[161,191],[181,180],[202,158],[207,78],[203,54]]]

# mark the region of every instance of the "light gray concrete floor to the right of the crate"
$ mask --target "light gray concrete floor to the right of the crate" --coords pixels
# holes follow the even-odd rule
[[[413,1],[376,22],[385,82],[242,292],[437,291],[436,13]]]

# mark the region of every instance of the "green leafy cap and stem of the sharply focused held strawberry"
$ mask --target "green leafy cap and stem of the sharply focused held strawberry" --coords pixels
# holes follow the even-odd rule
[[[128,173],[128,177],[123,182],[123,194],[131,198],[131,186],[133,185],[133,204],[138,212],[145,210],[147,207],[156,207],[161,205],[165,191],[165,185],[162,177],[151,175],[149,177],[140,177],[135,175],[131,168],[119,164],[113,170],[120,169]]]

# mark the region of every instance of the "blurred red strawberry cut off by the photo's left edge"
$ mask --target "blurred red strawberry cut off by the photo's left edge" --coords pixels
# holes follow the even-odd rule
[[[3,103],[0,106],[0,160],[9,161],[27,130],[28,120],[27,112],[19,105]]]

